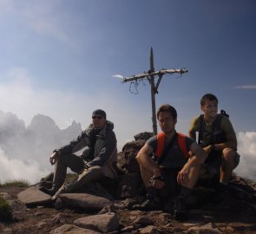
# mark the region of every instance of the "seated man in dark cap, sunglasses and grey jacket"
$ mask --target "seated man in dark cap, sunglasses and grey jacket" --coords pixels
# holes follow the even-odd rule
[[[106,113],[97,109],[92,114],[92,124],[67,146],[56,149],[50,156],[51,165],[56,164],[51,189],[40,187],[43,192],[56,200],[62,192],[73,192],[89,182],[108,177],[116,178],[115,162],[117,159],[114,124],[106,120]],[[81,156],[74,153],[88,146]],[[69,185],[63,185],[67,167],[76,172],[77,177]]]

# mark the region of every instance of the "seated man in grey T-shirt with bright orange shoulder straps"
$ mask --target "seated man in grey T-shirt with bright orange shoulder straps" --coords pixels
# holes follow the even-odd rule
[[[148,199],[134,208],[159,210],[162,209],[160,199],[167,202],[165,198],[179,195],[174,203],[174,218],[182,220],[187,218],[186,199],[198,179],[200,164],[207,158],[207,153],[193,139],[176,133],[177,112],[174,107],[162,105],[157,119],[162,132],[150,138],[136,156]],[[151,157],[152,153],[155,159]]]

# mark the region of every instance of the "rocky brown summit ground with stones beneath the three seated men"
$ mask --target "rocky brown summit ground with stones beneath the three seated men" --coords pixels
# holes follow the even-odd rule
[[[29,188],[0,186],[12,211],[9,218],[0,216],[0,233],[256,233],[256,184],[237,175],[221,200],[210,185],[196,185],[185,222],[174,220],[172,209],[136,210],[146,192],[135,156],[151,135],[139,133],[123,146],[117,180],[63,193],[55,203],[38,190],[51,186],[52,174]]]

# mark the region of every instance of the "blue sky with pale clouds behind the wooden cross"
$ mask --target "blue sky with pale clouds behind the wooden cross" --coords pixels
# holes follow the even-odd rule
[[[255,42],[253,0],[0,0],[0,110],[64,128],[88,126],[102,108],[121,149],[152,131],[152,110],[148,80],[135,87],[117,76],[148,71],[152,47],[155,70],[188,70],[163,76],[156,107],[176,107],[176,129],[187,133],[200,97],[217,95],[239,140],[238,172],[256,178]]]

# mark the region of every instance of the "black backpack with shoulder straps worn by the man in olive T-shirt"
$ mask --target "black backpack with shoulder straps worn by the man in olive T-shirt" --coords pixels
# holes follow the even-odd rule
[[[208,146],[208,145],[212,145],[215,143],[222,143],[226,141],[226,136],[225,133],[223,131],[221,131],[220,128],[220,120],[222,119],[223,116],[226,116],[227,118],[229,118],[229,115],[226,114],[225,110],[220,110],[220,114],[217,115],[216,119],[213,121],[212,124],[212,131],[211,131],[211,138],[210,141],[208,142],[208,144],[206,144],[203,141],[203,133],[205,131],[204,128],[204,114],[201,114],[199,117],[199,134],[198,134],[198,144],[200,146]]]

